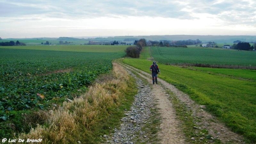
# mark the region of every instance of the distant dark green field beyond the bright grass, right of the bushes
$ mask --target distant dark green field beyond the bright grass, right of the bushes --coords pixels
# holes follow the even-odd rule
[[[256,67],[256,52],[220,48],[151,47],[151,55],[160,63],[203,65],[205,67]]]

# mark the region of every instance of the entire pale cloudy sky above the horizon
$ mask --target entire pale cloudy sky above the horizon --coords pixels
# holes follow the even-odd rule
[[[256,35],[256,0],[0,0],[0,37]]]

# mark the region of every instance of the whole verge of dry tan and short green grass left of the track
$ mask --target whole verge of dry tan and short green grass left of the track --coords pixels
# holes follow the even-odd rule
[[[124,109],[129,109],[137,93],[134,80],[120,66],[114,65],[107,75],[88,92],[64,102],[62,107],[45,112],[46,122],[19,138],[42,138],[42,144],[98,144],[120,123]]]

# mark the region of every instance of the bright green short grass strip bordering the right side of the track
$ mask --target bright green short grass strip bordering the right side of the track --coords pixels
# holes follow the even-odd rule
[[[125,59],[124,63],[149,72],[151,61]],[[158,63],[160,78],[175,85],[200,105],[216,115],[234,132],[244,135],[248,143],[256,142],[256,81],[254,78],[236,78],[212,75],[196,69],[166,66]],[[232,71],[231,71],[232,73]],[[255,71],[247,71],[253,75]],[[249,76],[250,77],[250,76]]]

